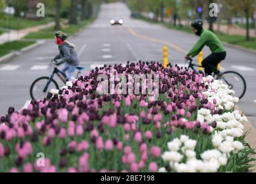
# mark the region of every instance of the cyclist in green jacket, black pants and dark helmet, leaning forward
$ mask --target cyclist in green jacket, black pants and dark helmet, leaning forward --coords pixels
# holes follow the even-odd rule
[[[192,22],[193,32],[200,36],[200,39],[185,56],[185,59],[198,55],[204,45],[207,45],[212,53],[202,60],[202,66],[205,68],[205,74],[212,75],[212,72],[219,73],[217,65],[226,58],[227,53],[219,38],[213,32],[203,29],[202,25],[202,20],[194,20]]]

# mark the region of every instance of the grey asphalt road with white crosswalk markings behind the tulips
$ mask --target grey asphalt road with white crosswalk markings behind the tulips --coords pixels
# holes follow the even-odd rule
[[[97,18],[70,41],[77,45],[81,66],[86,71],[103,64],[125,63],[127,60],[157,60],[162,62],[162,48],[169,48],[169,61],[184,63],[184,54],[197,41],[193,34],[166,29],[129,18],[130,11],[123,3],[102,5]],[[123,18],[123,26],[111,26],[110,18]],[[210,52],[204,49],[204,56]],[[49,60],[58,53],[54,40],[28,51],[5,64],[0,64],[0,114],[9,106],[20,109],[30,99],[29,86],[39,76],[48,76]],[[222,70],[240,72],[247,81],[247,93],[239,107],[247,116],[256,116],[256,54],[227,48]],[[83,74],[85,74],[85,72]],[[58,80],[59,81],[59,80]],[[61,83],[59,81],[59,83]]]

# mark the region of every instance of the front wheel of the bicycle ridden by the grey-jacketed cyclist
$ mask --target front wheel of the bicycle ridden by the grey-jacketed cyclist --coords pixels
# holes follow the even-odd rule
[[[49,83],[47,91],[44,93],[44,88],[48,81],[48,76],[43,76],[36,79],[36,81],[34,81],[30,86],[30,97],[32,99],[43,99],[47,97],[47,94],[49,91],[51,91],[51,89],[59,89],[58,83],[52,79],[51,83]]]

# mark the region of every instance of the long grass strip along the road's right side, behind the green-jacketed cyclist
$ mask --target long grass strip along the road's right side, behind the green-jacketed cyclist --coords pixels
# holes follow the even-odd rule
[[[155,21],[152,21],[152,20],[148,20],[147,18],[144,18],[144,17],[139,17],[139,19],[147,21],[147,22],[151,22],[153,24],[162,24],[166,28],[169,28],[169,29],[181,30],[181,31],[184,31],[186,33],[194,34],[192,32],[192,30],[190,29],[190,27],[187,26],[187,25],[174,26],[173,24],[169,24],[167,22],[163,22],[163,23],[162,22],[155,22]],[[254,37],[250,37],[250,40],[246,40],[245,36],[240,36],[240,35],[228,35],[228,34],[220,33],[217,36],[219,37],[219,39],[221,41],[224,41],[226,43],[234,44],[234,45],[238,45],[240,47],[256,50],[256,42],[255,42]]]

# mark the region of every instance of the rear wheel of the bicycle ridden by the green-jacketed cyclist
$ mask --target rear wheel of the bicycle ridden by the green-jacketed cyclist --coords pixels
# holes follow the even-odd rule
[[[235,91],[236,97],[243,98],[246,93],[246,81],[242,75],[235,71],[226,71],[221,77],[221,81],[228,85],[229,89]]]

